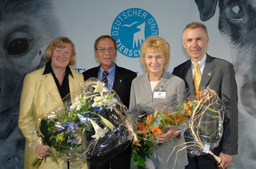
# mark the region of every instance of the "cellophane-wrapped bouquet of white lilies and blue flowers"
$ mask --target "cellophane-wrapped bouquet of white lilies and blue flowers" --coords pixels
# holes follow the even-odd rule
[[[127,108],[96,78],[75,88],[49,114],[35,122],[31,150],[42,143],[69,161],[102,156],[132,139]]]

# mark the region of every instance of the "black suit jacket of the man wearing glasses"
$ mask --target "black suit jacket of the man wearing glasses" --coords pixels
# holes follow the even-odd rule
[[[119,67],[115,64],[115,77],[113,82],[112,90],[114,90],[119,98],[122,100],[122,103],[129,108],[130,92],[132,80],[137,77],[137,73],[131,70]],[[98,78],[100,66],[93,67],[87,71],[83,72],[84,80],[89,78]],[[111,165],[114,168],[124,168],[129,169],[131,165],[131,156],[132,156],[132,147],[129,141],[125,144],[120,145],[119,147],[113,149],[109,153],[103,156],[97,156],[90,159],[91,168],[108,168],[109,159],[111,160]],[[123,150],[127,147],[125,150]]]

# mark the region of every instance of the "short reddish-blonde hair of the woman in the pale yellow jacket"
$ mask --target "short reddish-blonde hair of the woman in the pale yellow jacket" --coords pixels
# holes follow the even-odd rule
[[[48,60],[48,61],[51,61],[52,60],[52,51],[54,49],[56,49],[56,47],[58,48],[65,48],[67,46],[67,44],[71,44],[71,48],[72,48],[72,52],[71,52],[71,58],[70,58],[70,62],[69,62],[69,65],[72,66],[72,65],[75,65],[76,63],[76,52],[75,52],[75,45],[74,43],[67,37],[58,37],[56,39],[53,39],[48,47],[46,48],[45,50],[45,58]]]

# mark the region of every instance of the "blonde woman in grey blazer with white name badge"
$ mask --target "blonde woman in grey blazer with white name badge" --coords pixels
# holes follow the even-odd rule
[[[170,46],[163,38],[152,36],[145,39],[140,51],[141,62],[146,68],[146,73],[132,81],[129,113],[135,113],[146,102],[161,103],[165,96],[185,89],[182,79],[164,70],[169,62]],[[175,169],[184,169],[187,165],[186,149],[177,153],[176,160],[176,152],[181,149],[181,147],[176,147],[175,152],[167,161],[174,147],[185,142],[183,132],[177,132],[178,130],[172,127],[164,135],[158,136],[159,142],[168,142],[168,144],[163,144],[153,150],[150,159],[146,157],[145,166],[138,166],[138,168],[172,169],[175,166]]]

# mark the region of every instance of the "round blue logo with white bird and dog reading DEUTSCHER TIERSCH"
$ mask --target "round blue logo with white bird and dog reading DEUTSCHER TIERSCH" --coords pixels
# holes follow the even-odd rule
[[[118,51],[127,57],[140,57],[141,43],[153,35],[158,35],[158,25],[150,13],[140,8],[122,11],[111,28]]]

